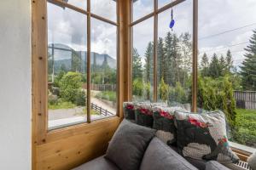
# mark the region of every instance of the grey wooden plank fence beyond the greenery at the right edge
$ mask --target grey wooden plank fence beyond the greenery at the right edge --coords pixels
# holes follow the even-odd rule
[[[256,109],[256,91],[234,91],[236,107],[239,109]]]

